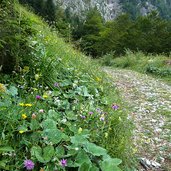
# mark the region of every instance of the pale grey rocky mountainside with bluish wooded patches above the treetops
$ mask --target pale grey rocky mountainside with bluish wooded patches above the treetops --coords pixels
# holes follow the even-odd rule
[[[56,0],[66,9],[70,8],[74,14],[84,16],[89,8],[97,7],[105,20],[114,19],[121,13],[129,13],[133,17],[147,15],[157,10],[162,17],[171,18],[170,0]]]

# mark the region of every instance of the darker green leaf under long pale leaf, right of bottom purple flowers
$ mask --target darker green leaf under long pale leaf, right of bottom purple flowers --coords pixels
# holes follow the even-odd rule
[[[83,163],[91,164],[91,161],[89,159],[89,156],[86,154],[86,152],[84,150],[80,150],[75,158],[75,164],[77,166],[81,166]]]

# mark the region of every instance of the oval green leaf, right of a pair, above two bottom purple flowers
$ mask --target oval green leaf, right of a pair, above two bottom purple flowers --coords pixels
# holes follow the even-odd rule
[[[53,146],[46,146],[44,149],[43,149],[43,159],[45,162],[49,162],[53,155],[55,153],[55,150],[54,150],[54,147]]]

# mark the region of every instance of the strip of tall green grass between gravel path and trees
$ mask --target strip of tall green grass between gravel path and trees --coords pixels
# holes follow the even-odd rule
[[[149,74],[171,84],[171,58],[164,55],[145,55],[142,52],[127,51],[125,56],[105,55],[100,59],[102,65],[134,70]]]

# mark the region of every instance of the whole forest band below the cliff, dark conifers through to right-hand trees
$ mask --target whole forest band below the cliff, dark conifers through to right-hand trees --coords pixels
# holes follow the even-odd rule
[[[139,15],[138,10],[134,11],[137,1],[121,1],[125,12],[108,21],[97,7],[89,8],[83,19],[73,14],[69,7],[64,9],[58,2],[54,4],[53,0],[20,2],[29,4],[66,41],[74,42],[77,48],[93,57],[111,52],[122,55],[126,49],[153,54],[170,53],[170,20],[164,19],[164,14],[159,15],[155,8],[146,15]],[[145,2],[142,3],[147,5]],[[165,8],[164,3],[153,4]]]

